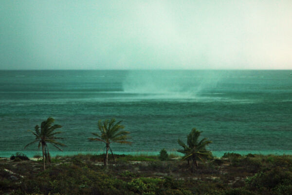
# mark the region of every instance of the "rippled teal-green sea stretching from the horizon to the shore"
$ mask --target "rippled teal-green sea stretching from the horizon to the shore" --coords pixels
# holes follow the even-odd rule
[[[117,153],[175,153],[192,128],[217,156],[292,154],[292,70],[0,71],[0,156],[40,154],[27,130],[62,125],[64,152],[102,153],[99,119],[123,120],[132,145]]]

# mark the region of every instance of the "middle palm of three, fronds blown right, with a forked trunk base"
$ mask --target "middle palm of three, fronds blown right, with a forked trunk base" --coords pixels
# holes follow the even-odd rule
[[[122,122],[116,122],[115,119],[111,118],[104,120],[103,122],[101,120],[98,121],[98,129],[100,131],[100,134],[92,133],[92,135],[96,137],[90,137],[90,141],[101,141],[106,144],[106,157],[104,164],[107,167],[108,166],[108,159],[109,159],[109,150],[113,156],[112,150],[110,148],[110,143],[121,143],[121,144],[131,144],[132,142],[127,141],[128,131],[120,131],[121,129],[124,129],[125,127],[121,125]],[[114,158],[114,156],[113,156]]]

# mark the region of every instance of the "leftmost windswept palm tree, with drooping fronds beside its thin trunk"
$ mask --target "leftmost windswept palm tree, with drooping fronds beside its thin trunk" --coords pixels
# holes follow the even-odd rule
[[[32,141],[31,143],[27,144],[24,148],[27,146],[38,142],[38,148],[41,146],[42,148],[42,157],[43,157],[43,168],[46,170],[45,167],[45,158],[47,159],[48,162],[51,162],[51,157],[49,153],[49,148],[47,143],[52,144],[55,146],[58,150],[62,151],[58,146],[65,146],[65,144],[57,142],[55,139],[62,139],[61,137],[55,137],[57,134],[60,134],[61,132],[55,132],[55,129],[61,128],[61,125],[53,125],[55,119],[52,117],[48,117],[47,120],[44,120],[41,122],[40,125],[40,131],[39,131],[39,126],[35,126],[35,132],[28,130],[29,132],[32,132],[36,136],[36,140]]]

